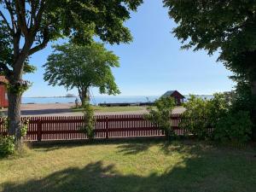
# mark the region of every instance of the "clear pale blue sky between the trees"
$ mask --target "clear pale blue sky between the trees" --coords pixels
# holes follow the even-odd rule
[[[203,50],[180,49],[180,42],[171,33],[175,23],[161,1],[145,1],[125,26],[130,28],[133,42],[106,45],[119,55],[120,67],[113,69],[113,74],[121,96],[160,96],[166,90],[179,90],[184,95],[212,94],[234,86],[228,78],[231,73],[216,61],[218,54],[209,56]],[[44,82],[42,66],[51,51],[49,44],[32,55],[31,63],[38,70],[24,77],[33,82],[24,96],[65,96],[67,92],[77,95],[77,90],[67,91]],[[95,96],[99,95],[96,89],[92,91]]]

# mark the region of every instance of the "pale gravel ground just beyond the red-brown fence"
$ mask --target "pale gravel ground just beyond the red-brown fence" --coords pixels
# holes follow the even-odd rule
[[[81,112],[72,112],[73,103],[48,103],[48,104],[22,104],[22,116],[78,116]],[[184,108],[177,107],[173,113],[183,113]],[[6,113],[6,109],[3,109]],[[96,112],[96,114],[143,114],[148,113],[147,109],[126,112]]]

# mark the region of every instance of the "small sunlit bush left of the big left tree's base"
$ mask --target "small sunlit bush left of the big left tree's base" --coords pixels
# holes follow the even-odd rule
[[[15,137],[0,136],[0,156],[7,156],[15,153]]]

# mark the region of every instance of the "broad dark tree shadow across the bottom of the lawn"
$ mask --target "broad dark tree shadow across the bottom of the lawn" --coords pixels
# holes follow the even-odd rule
[[[183,158],[182,162],[162,174],[151,172],[146,176],[122,174],[113,164],[104,166],[102,161],[96,161],[84,168],[70,167],[26,183],[3,183],[3,191],[213,192],[253,191],[256,188],[253,179],[248,179],[256,174],[253,169],[247,167],[247,172],[244,172],[246,167],[240,165],[240,161],[227,166],[218,158],[220,156],[209,160],[207,154],[194,155]]]

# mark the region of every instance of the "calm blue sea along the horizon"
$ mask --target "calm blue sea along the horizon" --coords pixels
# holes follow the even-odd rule
[[[211,99],[212,96],[200,96],[204,99]],[[90,103],[97,105],[99,103],[124,103],[124,102],[154,102],[160,96],[94,96]],[[185,96],[184,102],[188,101],[189,96]],[[76,97],[22,97],[23,104],[46,104],[46,103],[74,103]]]

